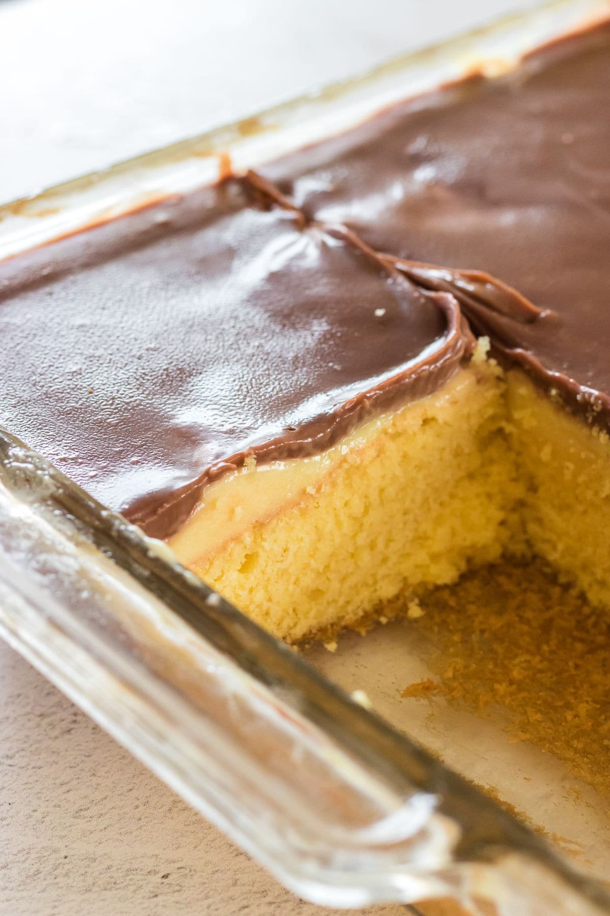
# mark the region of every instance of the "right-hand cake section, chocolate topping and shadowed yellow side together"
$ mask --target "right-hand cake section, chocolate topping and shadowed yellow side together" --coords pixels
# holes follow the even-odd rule
[[[504,367],[526,551],[610,604],[610,25],[389,108],[264,169],[311,218],[535,303],[462,307]],[[439,279],[442,285],[442,280]],[[439,284],[436,284],[439,288]]]

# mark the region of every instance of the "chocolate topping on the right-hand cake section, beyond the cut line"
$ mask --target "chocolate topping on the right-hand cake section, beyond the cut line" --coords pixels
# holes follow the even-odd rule
[[[505,361],[610,429],[609,112],[606,23],[263,172],[310,218],[344,223],[379,251],[487,271],[518,289],[535,316],[524,317],[519,296],[498,311],[481,283],[460,301]],[[449,273],[420,279],[447,289]]]

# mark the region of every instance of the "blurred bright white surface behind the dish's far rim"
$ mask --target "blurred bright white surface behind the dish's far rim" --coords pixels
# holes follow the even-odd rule
[[[536,0],[0,0],[0,201],[532,5]]]

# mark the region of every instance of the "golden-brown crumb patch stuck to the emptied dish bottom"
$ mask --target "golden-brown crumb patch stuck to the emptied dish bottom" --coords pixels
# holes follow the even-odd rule
[[[607,612],[543,562],[498,563],[420,600],[419,626],[437,646],[430,666],[441,683],[412,684],[401,695],[442,693],[477,714],[502,706],[509,740],[552,754],[610,797]]]

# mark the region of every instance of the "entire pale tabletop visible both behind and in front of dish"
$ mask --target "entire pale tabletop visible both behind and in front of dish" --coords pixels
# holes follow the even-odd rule
[[[349,15],[342,0],[0,0],[0,200],[525,5],[377,0],[371,16],[369,0]],[[282,889],[0,643],[0,916],[167,912],[327,911]]]

